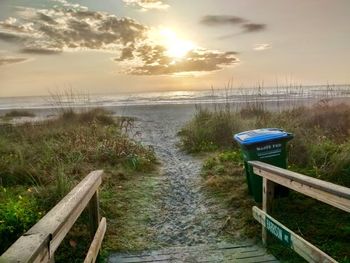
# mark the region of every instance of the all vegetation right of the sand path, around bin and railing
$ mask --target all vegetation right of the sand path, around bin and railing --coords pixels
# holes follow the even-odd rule
[[[180,131],[181,147],[191,153],[209,152],[203,166],[203,185],[231,211],[227,233],[260,238],[254,222],[239,146],[233,134],[244,130],[278,127],[295,135],[288,145],[289,169],[350,187],[350,106],[320,102],[281,112],[264,107],[239,111],[199,109]],[[296,193],[276,201],[273,216],[340,262],[349,262],[350,216]],[[312,222],[312,223],[310,223]],[[332,231],[329,231],[332,229]],[[284,262],[301,262],[278,242],[270,245]]]

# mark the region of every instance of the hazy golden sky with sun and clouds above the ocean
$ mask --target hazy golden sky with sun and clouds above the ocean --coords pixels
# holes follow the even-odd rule
[[[0,0],[0,97],[350,83],[348,0]]]

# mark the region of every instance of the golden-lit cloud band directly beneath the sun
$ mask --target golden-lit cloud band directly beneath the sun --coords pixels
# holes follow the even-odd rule
[[[238,63],[235,52],[218,52],[205,49],[190,51],[185,58],[174,60],[166,55],[162,46],[145,45],[136,51],[141,66],[131,68],[132,75],[173,75],[192,72],[211,72]],[[119,60],[119,59],[117,59]]]

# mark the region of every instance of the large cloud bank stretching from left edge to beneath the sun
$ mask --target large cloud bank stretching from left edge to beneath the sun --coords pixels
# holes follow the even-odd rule
[[[115,53],[118,58],[114,61],[124,67],[124,73],[133,75],[211,72],[239,62],[235,52],[197,46],[191,46],[181,57],[174,58],[169,54],[170,47],[151,34],[157,31],[155,28],[131,18],[72,7],[65,0],[54,1],[63,7],[22,7],[15,18],[0,21],[0,40],[17,44],[21,53],[35,55],[84,50]],[[24,61],[18,59],[11,61]]]

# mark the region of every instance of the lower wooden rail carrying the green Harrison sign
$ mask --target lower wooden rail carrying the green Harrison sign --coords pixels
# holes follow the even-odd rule
[[[321,251],[302,237],[295,234],[289,228],[285,227],[280,222],[278,222],[277,220],[275,220],[256,206],[253,207],[253,216],[260,224],[262,224],[264,227],[267,227],[270,233],[276,236],[277,239],[279,239],[287,246],[292,248],[306,261],[313,263],[337,262],[335,259],[331,258],[326,253],[324,253],[323,251]],[[267,226],[267,222],[270,222],[270,227]]]

